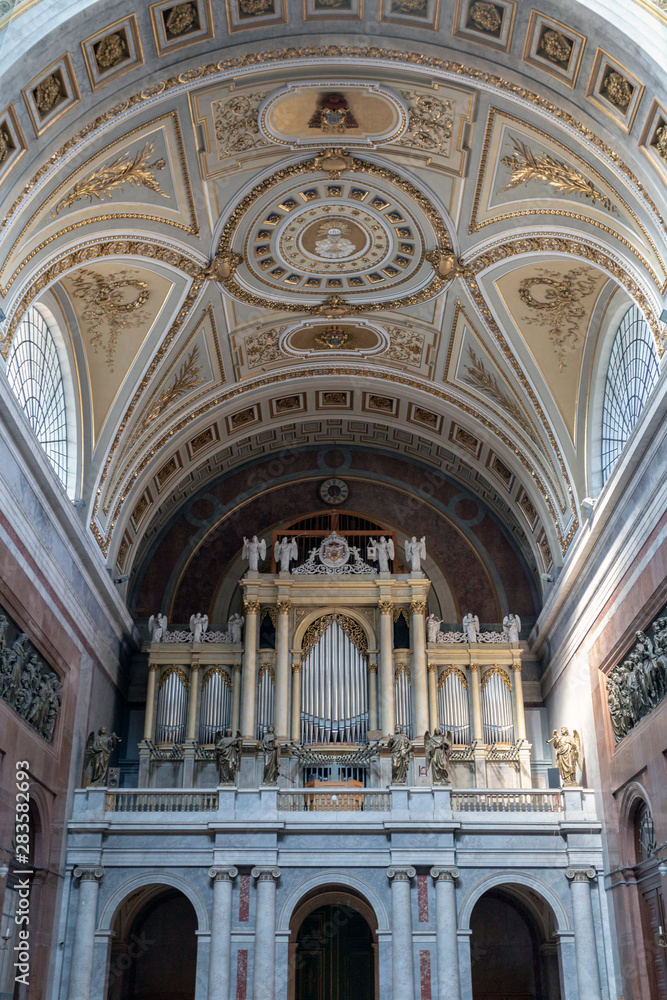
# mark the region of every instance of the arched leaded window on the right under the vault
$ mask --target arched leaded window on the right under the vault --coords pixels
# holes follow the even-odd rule
[[[607,368],[602,406],[603,484],[630,437],[659,374],[651,331],[637,306],[632,306],[616,332]]]

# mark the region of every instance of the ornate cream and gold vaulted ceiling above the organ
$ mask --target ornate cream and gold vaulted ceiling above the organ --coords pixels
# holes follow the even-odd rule
[[[110,566],[136,574],[240,464],[345,443],[464,486],[538,585],[562,564],[600,488],[615,325],[634,302],[665,338],[664,69],[641,39],[667,17],[633,4],[627,37],[623,10],[5,16],[3,353],[49,311]]]

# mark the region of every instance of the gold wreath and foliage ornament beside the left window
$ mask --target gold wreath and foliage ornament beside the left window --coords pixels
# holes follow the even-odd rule
[[[95,353],[104,345],[106,364],[114,370],[118,337],[123,330],[136,329],[146,322],[140,312],[150,298],[148,282],[130,271],[102,275],[84,268],[72,277],[74,298],[85,303],[81,319],[88,324],[88,336]]]

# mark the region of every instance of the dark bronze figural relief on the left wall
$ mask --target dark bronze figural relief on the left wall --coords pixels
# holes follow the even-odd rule
[[[62,704],[62,683],[3,608],[0,608],[0,697],[47,742],[53,742]]]

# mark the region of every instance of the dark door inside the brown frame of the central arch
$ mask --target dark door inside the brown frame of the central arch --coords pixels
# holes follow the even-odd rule
[[[371,930],[350,906],[321,906],[301,924],[295,1000],[373,1000]]]

